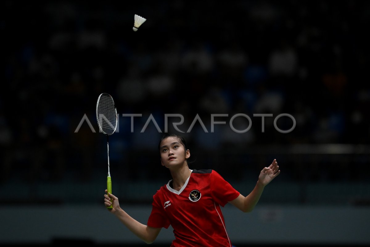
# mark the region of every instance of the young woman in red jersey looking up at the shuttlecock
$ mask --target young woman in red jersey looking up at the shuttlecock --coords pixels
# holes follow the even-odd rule
[[[190,151],[183,137],[168,134],[162,137],[158,147],[162,166],[169,169],[172,180],[153,196],[147,225],[122,210],[116,196],[104,195],[105,206],[113,204],[111,213],[148,244],[157,238],[162,227],[171,225],[175,234],[171,247],[231,247],[221,206],[231,203],[243,212],[252,211],[263,188],[280,173],[274,159],[269,167],[262,169],[255,188],[244,197],[216,171],[190,170],[187,163]]]

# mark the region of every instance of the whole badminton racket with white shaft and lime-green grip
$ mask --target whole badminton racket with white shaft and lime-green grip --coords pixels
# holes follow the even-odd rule
[[[98,102],[96,103],[96,119],[98,121],[99,129],[107,136],[108,147],[108,177],[107,177],[107,190],[112,193],[112,179],[109,170],[109,136],[111,136],[117,128],[117,109],[114,106],[112,96],[107,93],[99,95]],[[112,199],[111,199],[112,202]],[[112,209],[113,206],[108,206]]]

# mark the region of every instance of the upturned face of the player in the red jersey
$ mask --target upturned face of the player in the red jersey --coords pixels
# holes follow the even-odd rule
[[[190,157],[190,151],[185,150],[184,145],[176,137],[165,138],[159,150],[161,152],[162,166],[167,168],[182,166],[186,159]]]

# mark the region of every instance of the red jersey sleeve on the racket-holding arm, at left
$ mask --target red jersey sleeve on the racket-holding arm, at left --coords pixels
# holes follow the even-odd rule
[[[147,225],[150,227],[164,227],[167,229],[170,223],[164,212],[159,194],[161,194],[161,190],[158,190],[157,193],[155,193],[155,195],[153,196],[152,213],[149,216]]]

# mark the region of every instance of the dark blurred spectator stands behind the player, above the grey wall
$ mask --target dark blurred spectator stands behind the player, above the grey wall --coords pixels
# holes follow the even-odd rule
[[[150,205],[170,174],[159,161],[164,114],[181,114],[191,169],[242,194],[276,158],[261,204],[369,206],[368,1],[2,1],[1,203],[103,204],[105,136],[95,105],[115,100],[113,191]],[[134,14],[147,19],[132,31]],[[235,114],[250,130],[229,126]],[[286,113],[290,133],[273,126]],[[77,128],[84,114],[87,121]],[[130,118],[122,114],[142,114]],[[211,114],[226,121],[211,133]],[[253,114],[273,114],[261,118]],[[248,121],[238,117],[234,127]],[[292,120],[277,121],[282,130]],[[78,131],[77,131],[78,130]],[[273,187],[280,186],[279,191]],[[299,193],[290,194],[295,185]],[[310,194],[309,186],[319,184]],[[131,186],[131,187],[130,187]],[[11,188],[11,189],[10,189]],[[81,191],[73,200],[75,188]],[[117,188],[117,189],[115,189]],[[252,187],[253,188],[253,187]],[[333,190],[333,188],[335,188]],[[10,191],[11,190],[11,191]],[[12,193],[10,193],[12,192]],[[269,192],[266,192],[269,193]],[[324,196],[323,196],[324,194]]]

